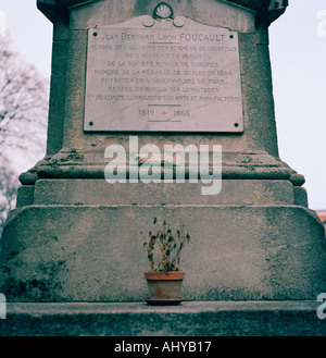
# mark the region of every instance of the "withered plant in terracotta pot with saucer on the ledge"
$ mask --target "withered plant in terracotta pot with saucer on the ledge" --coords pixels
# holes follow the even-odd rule
[[[150,261],[150,271],[145,272],[150,297],[145,300],[149,305],[178,305],[184,298],[179,297],[185,271],[179,271],[180,254],[189,234],[185,233],[185,224],[179,220],[179,227],[172,231],[166,220],[153,224],[155,231],[143,236],[143,247]]]

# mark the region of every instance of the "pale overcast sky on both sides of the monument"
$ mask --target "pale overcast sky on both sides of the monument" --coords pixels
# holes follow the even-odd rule
[[[52,25],[36,0],[0,0],[4,30],[49,77]],[[280,159],[305,176],[310,207],[326,209],[326,0],[290,0],[269,34]]]

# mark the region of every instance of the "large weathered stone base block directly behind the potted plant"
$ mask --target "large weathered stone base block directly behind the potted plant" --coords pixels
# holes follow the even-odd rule
[[[311,299],[326,292],[325,232],[296,206],[33,206],[4,227],[9,301],[135,301],[149,268],[139,234],[154,217],[187,225],[191,300]],[[313,259],[312,259],[313,258]]]

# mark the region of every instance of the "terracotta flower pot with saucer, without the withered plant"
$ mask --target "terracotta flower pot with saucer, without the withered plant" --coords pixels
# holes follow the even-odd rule
[[[146,271],[150,297],[146,298],[149,305],[178,305],[185,271]]]

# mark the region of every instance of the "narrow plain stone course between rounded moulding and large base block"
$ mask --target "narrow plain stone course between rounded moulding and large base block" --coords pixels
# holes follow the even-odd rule
[[[200,183],[200,182],[199,182]],[[293,205],[287,181],[225,180],[218,195],[202,195],[212,184],[109,184],[104,180],[40,180],[36,205]]]

